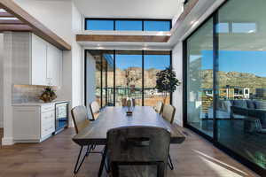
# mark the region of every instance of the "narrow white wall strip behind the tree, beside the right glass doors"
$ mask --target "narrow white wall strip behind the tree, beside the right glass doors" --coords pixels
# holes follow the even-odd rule
[[[183,44],[179,42],[172,50],[172,64],[176,71],[176,78],[182,84],[176,89],[173,94],[173,105],[176,107],[175,122],[183,127]]]

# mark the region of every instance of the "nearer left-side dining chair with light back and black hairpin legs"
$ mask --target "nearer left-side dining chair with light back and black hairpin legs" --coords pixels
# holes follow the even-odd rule
[[[72,119],[74,121],[74,129],[75,129],[76,134],[80,133],[83,128],[88,127],[90,125],[88,110],[85,106],[83,106],[83,105],[75,106],[71,110],[71,115],[72,115]],[[90,153],[102,154],[102,151],[92,151],[95,149],[95,147],[96,147],[96,145],[94,145],[94,144],[88,145],[86,153],[83,156],[82,160],[80,161],[81,155],[82,155],[82,150],[83,150],[83,146],[81,146],[81,150],[79,152],[76,164],[74,165],[74,173],[78,173],[78,171],[82,167],[84,159],[86,157],[88,157],[90,155]]]

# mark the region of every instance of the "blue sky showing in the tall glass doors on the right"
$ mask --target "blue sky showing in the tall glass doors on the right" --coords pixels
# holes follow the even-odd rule
[[[213,51],[202,50],[202,69],[213,68]],[[200,56],[191,56],[191,60]],[[254,73],[266,77],[266,51],[219,51],[219,70],[223,72]]]

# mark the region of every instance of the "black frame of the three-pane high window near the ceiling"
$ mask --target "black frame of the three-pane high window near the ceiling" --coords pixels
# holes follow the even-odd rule
[[[90,29],[87,29],[87,24],[88,24],[88,21],[89,20],[111,20],[111,21],[113,20],[113,31],[120,31],[120,30],[116,30],[115,22],[116,21],[121,21],[121,20],[124,20],[124,21],[142,21],[142,30],[141,31],[145,31],[144,30],[144,22],[145,21],[167,21],[167,22],[169,22],[169,31],[172,29],[172,19],[126,19],[126,18],[109,19],[109,18],[85,18],[84,30],[90,30]],[[109,31],[112,31],[112,30],[109,30]]]

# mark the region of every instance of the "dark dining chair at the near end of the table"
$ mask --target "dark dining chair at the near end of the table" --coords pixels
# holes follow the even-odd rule
[[[113,177],[167,174],[170,133],[162,127],[117,127],[107,132]]]

